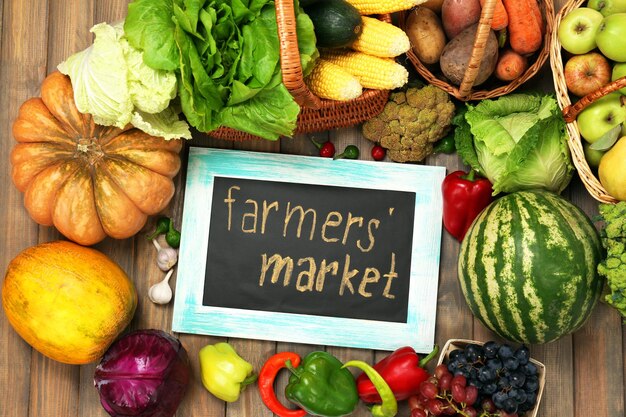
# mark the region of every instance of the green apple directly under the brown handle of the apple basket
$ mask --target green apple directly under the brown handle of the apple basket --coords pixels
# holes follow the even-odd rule
[[[620,93],[611,93],[590,104],[580,112],[578,129],[589,143],[594,143],[606,132],[626,120],[626,105]]]

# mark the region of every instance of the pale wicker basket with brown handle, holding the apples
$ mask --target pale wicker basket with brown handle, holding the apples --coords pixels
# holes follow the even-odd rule
[[[571,12],[572,10],[580,7],[585,0],[576,0],[568,2],[561,11],[556,15],[554,20],[554,26],[558,27],[563,19],[563,16]],[[620,78],[607,86],[594,91],[593,93],[581,98],[575,104],[572,104],[570,96],[565,84],[565,76],[563,74],[563,58],[561,56],[561,43],[559,42],[557,31],[552,34],[551,47],[550,47],[550,66],[552,67],[552,74],[554,78],[554,88],[556,90],[557,100],[561,109],[563,109],[563,117],[565,119],[567,133],[569,136],[568,145],[572,152],[572,160],[578,170],[578,175],[582,180],[585,188],[589,191],[589,194],[596,200],[602,203],[617,203],[617,199],[613,198],[604,189],[600,181],[595,177],[593,171],[587,163],[585,158],[585,152],[583,151],[582,140],[580,137],[580,131],[578,130],[578,123],[576,122],[576,116],[589,104],[598,100],[613,91],[617,91],[620,88],[626,87],[626,77]]]

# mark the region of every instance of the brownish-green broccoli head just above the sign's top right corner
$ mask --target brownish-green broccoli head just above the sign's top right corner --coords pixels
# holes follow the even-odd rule
[[[383,111],[363,124],[363,136],[378,142],[396,162],[419,162],[448,133],[455,107],[433,86],[393,92]]]

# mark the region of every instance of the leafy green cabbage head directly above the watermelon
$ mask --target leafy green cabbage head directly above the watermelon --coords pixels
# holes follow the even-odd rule
[[[561,193],[572,179],[565,122],[553,96],[512,94],[468,104],[455,123],[459,155],[491,181],[494,195]]]

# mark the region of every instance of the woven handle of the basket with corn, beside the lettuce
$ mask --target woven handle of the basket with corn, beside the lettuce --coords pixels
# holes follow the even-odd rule
[[[283,84],[300,107],[319,109],[322,102],[304,83],[293,0],[275,0]]]

